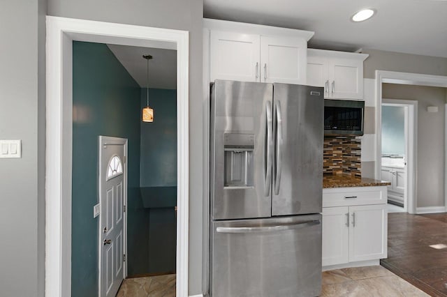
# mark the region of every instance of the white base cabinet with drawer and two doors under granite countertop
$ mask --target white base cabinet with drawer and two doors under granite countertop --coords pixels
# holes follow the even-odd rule
[[[387,222],[386,186],[323,189],[323,269],[386,258]]]

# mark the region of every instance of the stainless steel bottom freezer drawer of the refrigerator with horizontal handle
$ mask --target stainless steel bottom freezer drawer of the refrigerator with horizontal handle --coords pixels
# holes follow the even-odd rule
[[[318,296],[321,215],[212,222],[211,294]]]

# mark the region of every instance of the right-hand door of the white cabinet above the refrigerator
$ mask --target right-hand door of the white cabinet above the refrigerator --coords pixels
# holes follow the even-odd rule
[[[304,38],[261,36],[261,82],[306,84]]]

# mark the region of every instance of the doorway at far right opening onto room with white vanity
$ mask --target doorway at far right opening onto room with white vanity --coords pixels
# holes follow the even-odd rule
[[[382,102],[381,179],[391,183],[388,213],[407,212],[414,201],[409,189],[414,181],[418,102],[385,98]]]

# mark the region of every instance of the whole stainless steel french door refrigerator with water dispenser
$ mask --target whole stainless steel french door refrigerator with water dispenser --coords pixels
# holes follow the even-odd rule
[[[323,88],[212,85],[210,294],[321,291]]]

